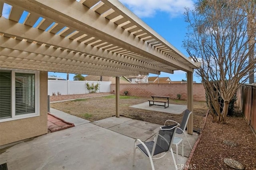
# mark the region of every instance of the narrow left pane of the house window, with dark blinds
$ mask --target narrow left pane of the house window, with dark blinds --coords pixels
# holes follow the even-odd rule
[[[12,72],[0,70],[0,119],[12,117]]]

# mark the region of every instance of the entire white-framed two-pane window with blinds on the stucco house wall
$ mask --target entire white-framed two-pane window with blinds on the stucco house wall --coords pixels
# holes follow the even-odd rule
[[[0,70],[0,122],[39,113],[39,72]]]

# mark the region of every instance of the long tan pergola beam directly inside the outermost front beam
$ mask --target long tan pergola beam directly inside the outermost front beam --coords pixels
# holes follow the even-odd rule
[[[27,39],[30,41],[40,42],[40,44],[46,44],[48,46],[53,45],[56,48],[69,49],[70,51],[78,51],[94,56],[104,56],[104,58],[110,60],[120,61],[126,64],[132,64],[140,67],[152,69],[151,73],[156,74],[153,70],[159,70],[163,72],[173,73],[173,70],[168,68],[162,68],[153,64],[141,62],[130,57],[124,57],[117,53],[111,53],[107,50],[103,50],[91,45],[80,43],[78,41],[72,41],[61,36],[56,36],[53,33],[35,29],[27,25],[19,24],[5,18],[0,18],[0,33],[13,35],[20,39]],[[150,70],[148,71],[150,72]],[[158,73],[160,74],[160,73]]]

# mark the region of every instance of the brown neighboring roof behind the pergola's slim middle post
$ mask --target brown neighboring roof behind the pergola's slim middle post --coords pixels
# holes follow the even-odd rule
[[[88,75],[84,77],[87,81],[100,81],[100,76]],[[113,76],[102,76],[103,82],[111,82],[111,84],[116,84],[116,77]],[[124,76],[120,77],[120,84],[130,84],[131,82],[127,80]]]

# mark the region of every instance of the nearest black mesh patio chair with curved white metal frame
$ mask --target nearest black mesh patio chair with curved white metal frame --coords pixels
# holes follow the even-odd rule
[[[154,164],[152,159],[159,159],[166,155],[167,152],[171,152],[172,160],[174,162],[175,169],[177,169],[174,154],[172,152],[172,142],[176,133],[176,129],[179,124],[177,125],[170,125],[170,126],[163,126],[160,127],[160,130],[158,133],[156,133],[156,136],[154,138],[154,141],[149,142],[142,142],[140,139],[136,139],[134,141],[134,152],[133,152],[133,160],[132,160],[132,166],[134,166],[135,163],[135,153],[136,149],[139,149],[142,153],[144,153],[150,160],[150,164],[152,167],[152,170],[154,170]],[[140,143],[137,145],[137,142]],[[164,153],[164,155],[153,158],[153,156]]]

